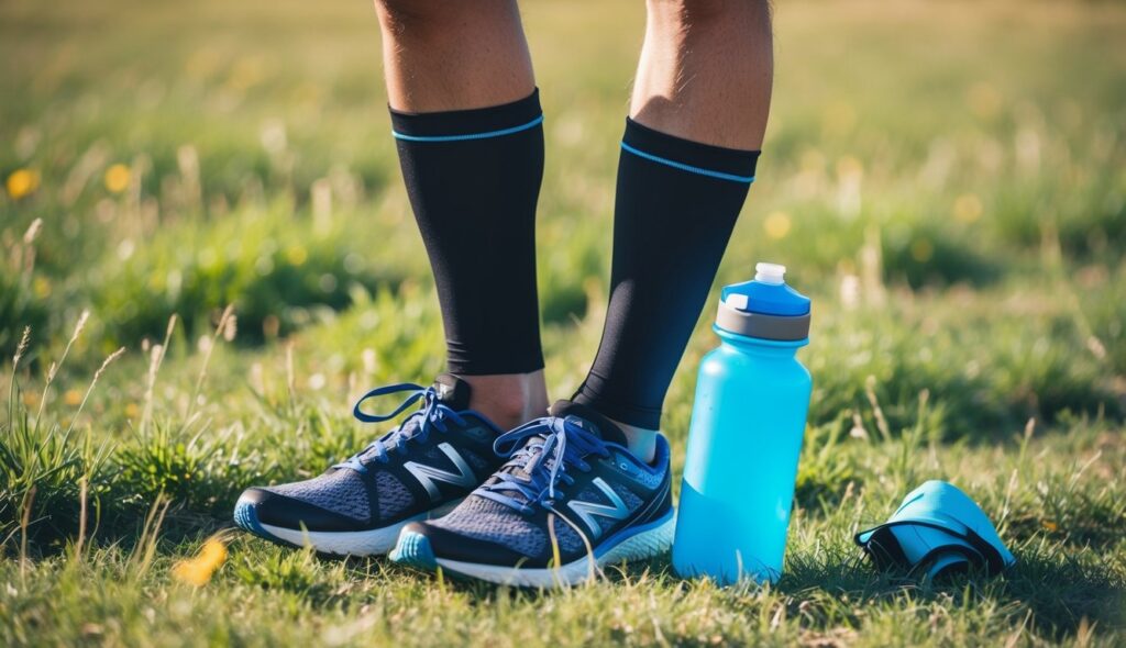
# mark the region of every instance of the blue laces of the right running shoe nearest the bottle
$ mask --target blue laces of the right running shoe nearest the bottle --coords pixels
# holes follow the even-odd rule
[[[537,436],[543,441],[529,441]],[[493,443],[493,450],[509,461],[474,494],[500,502],[525,515],[535,512],[536,503],[547,508],[554,506],[556,485],[560,482],[568,485],[574,483],[566,474],[568,467],[573,466],[586,472],[590,470],[590,464],[584,457],[608,457],[610,453],[597,434],[582,429],[571,417],[558,416],[537,418],[501,434]],[[515,469],[522,470],[527,478],[515,475]]]

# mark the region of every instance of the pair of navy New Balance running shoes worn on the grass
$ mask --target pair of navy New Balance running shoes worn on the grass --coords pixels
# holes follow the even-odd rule
[[[390,552],[417,568],[528,587],[578,584],[669,549],[664,436],[643,461],[614,422],[568,400],[504,432],[468,407],[470,389],[449,374],[430,387],[373,389],[356,404],[363,422],[418,408],[314,479],[247,489],[235,523],[321,554]],[[360,407],[393,394],[405,400],[391,414]]]

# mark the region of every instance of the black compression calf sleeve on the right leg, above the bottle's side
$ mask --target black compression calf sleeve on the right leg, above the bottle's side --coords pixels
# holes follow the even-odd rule
[[[610,303],[574,396],[656,430],[680,357],[754,180],[758,151],[691,142],[626,120],[618,161]]]

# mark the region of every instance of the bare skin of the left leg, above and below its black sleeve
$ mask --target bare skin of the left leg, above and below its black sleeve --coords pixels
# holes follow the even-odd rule
[[[499,106],[535,89],[515,0],[376,0],[391,107],[439,112]],[[502,429],[547,410],[543,370],[461,375],[471,407]]]

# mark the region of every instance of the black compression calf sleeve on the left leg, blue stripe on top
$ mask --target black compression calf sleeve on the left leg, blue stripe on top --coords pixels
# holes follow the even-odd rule
[[[391,111],[454,374],[522,374],[544,366],[535,230],[542,122],[538,90],[490,108]]]

